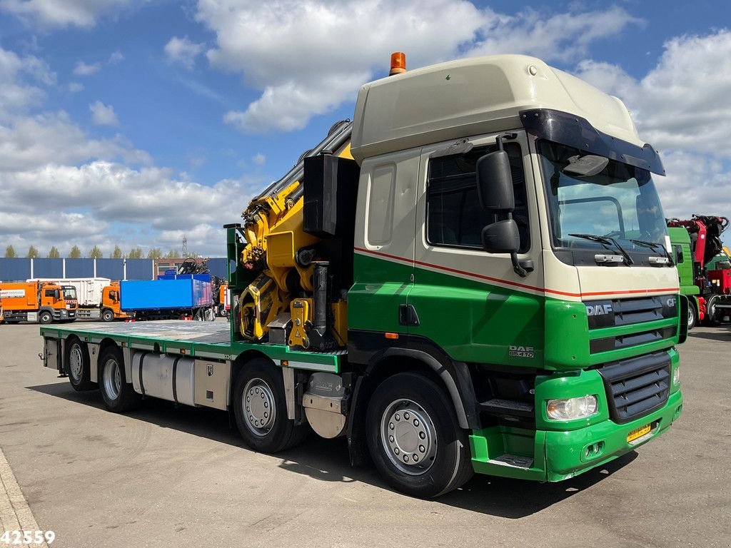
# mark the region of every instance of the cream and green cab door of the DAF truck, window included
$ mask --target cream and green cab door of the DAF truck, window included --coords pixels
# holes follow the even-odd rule
[[[423,148],[414,286],[418,317],[409,333],[436,343],[452,359],[506,365],[539,363],[544,293],[537,205],[525,133],[506,140],[520,231],[518,258],[532,262],[525,278],[510,254],[482,248],[482,228],[496,220],[480,207],[475,164],[496,150],[496,135]]]

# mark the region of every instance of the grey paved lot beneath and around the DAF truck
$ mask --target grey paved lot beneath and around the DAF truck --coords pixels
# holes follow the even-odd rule
[[[42,368],[37,333],[0,325],[0,448],[54,548],[731,546],[729,327],[682,347],[684,414],[654,443],[561,484],[477,476],[438,501],[349,468],[342,439],[270,456],[223,412],[108,413]]]

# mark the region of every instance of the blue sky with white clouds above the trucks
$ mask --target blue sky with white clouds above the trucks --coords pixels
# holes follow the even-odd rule
[[[219,256],[360,84],[528,53],[623,99],[667,216],[731,216],[731,17],[694,0],[0,0],[0,251]]]

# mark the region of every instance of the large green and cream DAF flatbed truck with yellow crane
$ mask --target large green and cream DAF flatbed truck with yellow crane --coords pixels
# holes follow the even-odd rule
[[[394,68],[227,225],[228,324],[45,326],[44,365],[110,411],[228,410],[261,452],[342,436],[427,498],[670,428],[687,300],[624,104],[526,56]]]

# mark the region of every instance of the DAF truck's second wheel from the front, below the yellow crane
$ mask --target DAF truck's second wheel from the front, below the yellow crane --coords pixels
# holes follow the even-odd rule
[[[233,393],[238,431],[251,449],[276,453],[299,444],[305,425],[287,419],[287,402],[281,371],[268,359],[247,362],[236,378]]]

